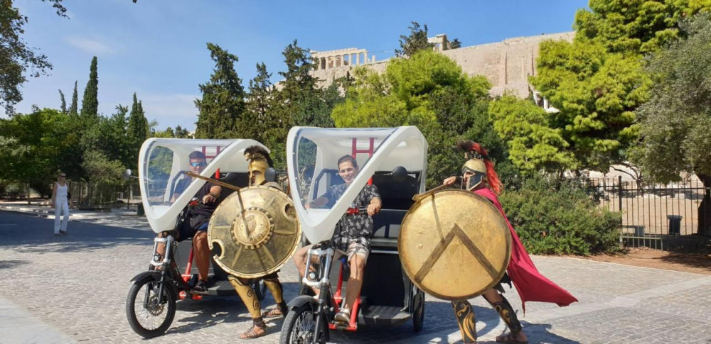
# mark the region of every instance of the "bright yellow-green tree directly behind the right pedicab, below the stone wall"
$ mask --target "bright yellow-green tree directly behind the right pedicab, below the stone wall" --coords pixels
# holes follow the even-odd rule
[[[378,74],[353,71],[346,100],[331,116],[337,127],[417,126],[429,143],[427,185],[459,174],[463,161],[453,149],[457,140],[481,142],[498,164],[506,165],[506,145],[493,133],[486,112],[485,77],[470,77],[449,57],[421,50],[397,59]]]

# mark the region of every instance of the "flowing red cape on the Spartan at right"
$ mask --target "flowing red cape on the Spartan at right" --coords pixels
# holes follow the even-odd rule
[[[506,214],[503,213],[501,203],[498,202],[496,194],[488,188],[475,190],[474,193],[486,197],[496,206],[503,219],[506,220],[508,230],[511,232],[511,260],[508,262],[506,272],[508,272],[508,276],[511,277],[511,281],[521,297],[523,313],[525,314],[526,311],[526,301],[552,302],[558,304],[558,306],[567,306],[577,302],[577,299],[567,290],[558,287],[557,284],[538,272],[516,231],[513,230],[513,226],[508,222]]]

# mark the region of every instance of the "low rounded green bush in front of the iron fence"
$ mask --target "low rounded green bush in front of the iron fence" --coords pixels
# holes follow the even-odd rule
[[[501,195],[511,225],[529,253],[590,255],[619,250],[620,213],[602,209],[580,179],[535,175]]]

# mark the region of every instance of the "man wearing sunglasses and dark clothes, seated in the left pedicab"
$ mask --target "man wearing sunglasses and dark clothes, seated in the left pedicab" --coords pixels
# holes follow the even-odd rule
[[[191,152],[188,156],[190,159],[190,171],[200,174],[207,166],[207,160],[203,152],[198,150]],[[176,185],[175,192],[171,197],[173,203],[193,182],[193,177],[183,178]],[[210,248],[208,247],[208,223],[210,216],[213,215],[217,208],[217,200],[222,193],[222,187],[210,182],[205,182],[198,192],[196,198],[202,201],[201,204],[190,209],[188,218],[178,228],[178,241],[187,238],[193,238],[193,252],[195,253],[195,261],[198,266],[198,283],[195,285],[193,292],[205,293],[208,291],[208,270],[210,269]],[[161,233],[162,234],[162,233]],[[160,236],[160,235],[159,235]],[[158,253],[163,255],[165,248],[158,248]],[[162,252],[161,252],[162,251]]]

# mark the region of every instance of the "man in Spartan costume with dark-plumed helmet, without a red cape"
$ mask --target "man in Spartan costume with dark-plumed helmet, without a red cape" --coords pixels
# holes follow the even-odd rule
[[[279,184],[267,182],[264,178],[264,173],[267,172],[269,167],[272,167],[272,157],[269,157],[267,150],[264,150],[264,148],[260,146],[252,145],[245,150],[245,157],[250,162],[250,187],[262,185],[265,187],[274,187],[282,191]],[[276,308],[271,311],[264,311],[264,313],[261,313],[262,306],[260,300],[257,299],[257,294],[251,287],[254,280],[232,275],[228,276],[230,284],[232,284],[232,287],[235,287],[237,294],[240,295],[245,306],[247,306],[247,310],[250,311],[252,321],[254,322],[252,328],[240,335],[242,339],[259,338],[262,335],[266,335],[267,324],[264,323],[264,318],[287,315],[287,303],[284,302],[284,288],[282,287],[282,283],[279,282],[277,272],[272,272],[260,278],[264,279],[264,283],[267,284],[267,288],[269,288],[269,291],[272,292],[272,296],[274,296],[274,301],[277,301]]]

